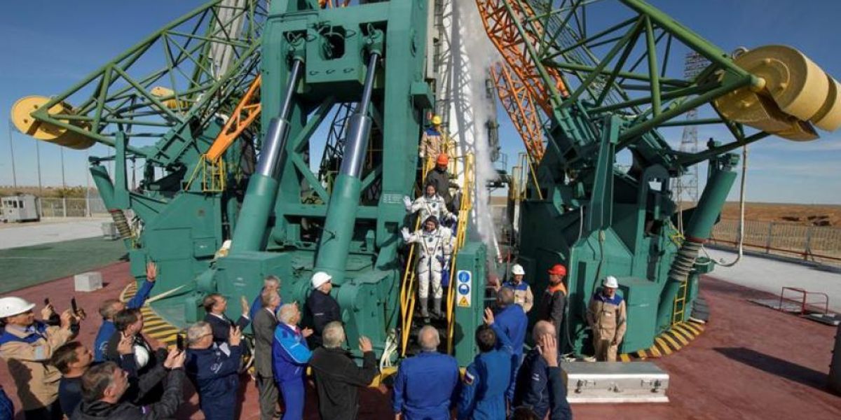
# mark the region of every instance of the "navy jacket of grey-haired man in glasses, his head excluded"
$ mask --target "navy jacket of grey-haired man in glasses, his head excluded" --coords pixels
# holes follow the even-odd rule
[[[240,346],[230,355],[213,344],[208,349],[188,349],[184,370],[198,391],[198,405],[207,420],[233,420],[240,391]]]

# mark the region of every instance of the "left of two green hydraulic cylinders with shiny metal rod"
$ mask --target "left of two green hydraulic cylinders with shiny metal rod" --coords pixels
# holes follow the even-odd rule
[[[272,213],[275,198],[278,197],[278,177],[283,171],[283,155],[289,137],[288,118],[292,112],[292,97],[301,75],[301,66],[301,60],[293,60],[280,112],[269,123],[260,160],[257,162],[257,171],[248,180],[246,198],[236,220],[234,237],[230,244],[231,254],[262,249],[268,218]]]

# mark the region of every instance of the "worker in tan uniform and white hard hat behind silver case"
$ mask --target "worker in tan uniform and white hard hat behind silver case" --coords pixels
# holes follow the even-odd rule
[[[593,296],[587,309],[587,323],[593,330],[595,358],[616,361],[616,351],[627,329],[625,300],[616,294],[619,281],[607,276],[601,282],[601,291]]]

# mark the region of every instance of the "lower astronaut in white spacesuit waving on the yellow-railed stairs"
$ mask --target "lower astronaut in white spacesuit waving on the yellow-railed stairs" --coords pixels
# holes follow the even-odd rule
[[[441,272],[449,265],[452,254],[452,231],[449,228],[440,228],[438,219],[435,216],[426,218],[423,228],[410,234],[408,228],[400,230],[406,244],[416,242],[418,247],[418,259],[416,270],[418,276],[418,297],[420,297],[421,316],[429,318],[429,283],[432,281],[432,314],[442,318],[441,301],[444,292],[441,286]]]

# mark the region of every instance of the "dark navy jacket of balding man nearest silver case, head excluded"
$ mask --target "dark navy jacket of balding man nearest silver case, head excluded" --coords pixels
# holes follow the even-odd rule
[[[563,381],[561,381],[563,385]],[[537,418],[546,417],[552,401],[555,401],[552,418],[571,419],[572,410],[567,402],[567,390],[563,386],[550,389],[549,365],[537,351],[537,347],[526,354],[517,375],[516,392],[512,407],[532,407]],[[552,395],[550,396],[550,392]],[[551,399],[550,399],[551,398]]]

